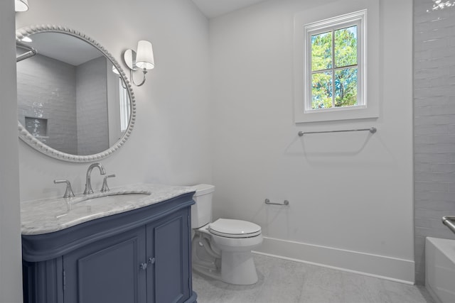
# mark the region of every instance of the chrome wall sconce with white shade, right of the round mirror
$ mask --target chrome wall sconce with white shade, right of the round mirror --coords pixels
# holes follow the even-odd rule
[[[129,68],[131,82],[137,87],[144,84],[146,73],[155,67],[154,50],[151,47],[151,43],[146,40],[139,40],[137,43],[137,53],[134,50],[125,50],[123,60]],[[142,82],[139,84],[136,84],[133,78],[133,72],[137,70],[141,70],[143,74]]]

